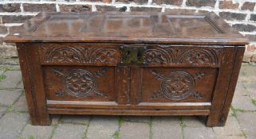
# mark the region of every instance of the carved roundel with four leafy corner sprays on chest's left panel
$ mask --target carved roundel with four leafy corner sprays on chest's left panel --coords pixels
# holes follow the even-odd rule
[[[75,68],[69,71],[61,69],[52,69],[55,75],[61,76],[64,83],[64,90],[57,91],[55,96],[73,95],[75,97],[85,97],[88,95],[100,95],[107,97],[103,92],[96,90],[96,77],[104,75],[105,69],[91,73],[85,69]]]

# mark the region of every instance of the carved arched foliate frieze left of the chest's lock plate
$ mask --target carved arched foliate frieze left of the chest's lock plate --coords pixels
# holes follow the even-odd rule
[[[50,47],[45,48],[43,62],[56,64],[116,64],[115,48]]]

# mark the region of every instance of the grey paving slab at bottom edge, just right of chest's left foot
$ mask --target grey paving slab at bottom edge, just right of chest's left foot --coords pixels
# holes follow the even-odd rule
[[[85,125],[59,124],[52,139],[82,139],[85,136]]]

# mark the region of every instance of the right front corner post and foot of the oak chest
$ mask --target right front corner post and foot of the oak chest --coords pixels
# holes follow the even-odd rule
[[[207,126],[225,125],[244,51],[243,47],[226,48],[226,60],[223,60],[223,69],[220,70],[219,74],[222,78],[219,78],[216,85],[216,92],[213,98],[215,106],[212,106],[212,112],[207,119]],[[219,100],[220,98],[222,101]]]

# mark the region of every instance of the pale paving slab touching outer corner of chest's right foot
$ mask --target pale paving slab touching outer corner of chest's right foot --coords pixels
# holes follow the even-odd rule
[[[218,135],[243,137],[242,129],[238,124],[238,120],[234,116],[229,116],[227,118],[225,126],[216,126],[213,127],[213,130]]]

